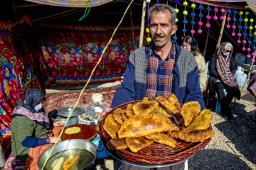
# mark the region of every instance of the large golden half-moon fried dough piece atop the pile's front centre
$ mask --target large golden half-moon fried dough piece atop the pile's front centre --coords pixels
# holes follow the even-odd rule
[[[134,115],[125,121],[118,130],[118,137],[144,137],[159,132],[171,132],[178,130],[176,125],[167,123],[168,118],[161,114]],[[171,121],[171,120],[170,120]]]

